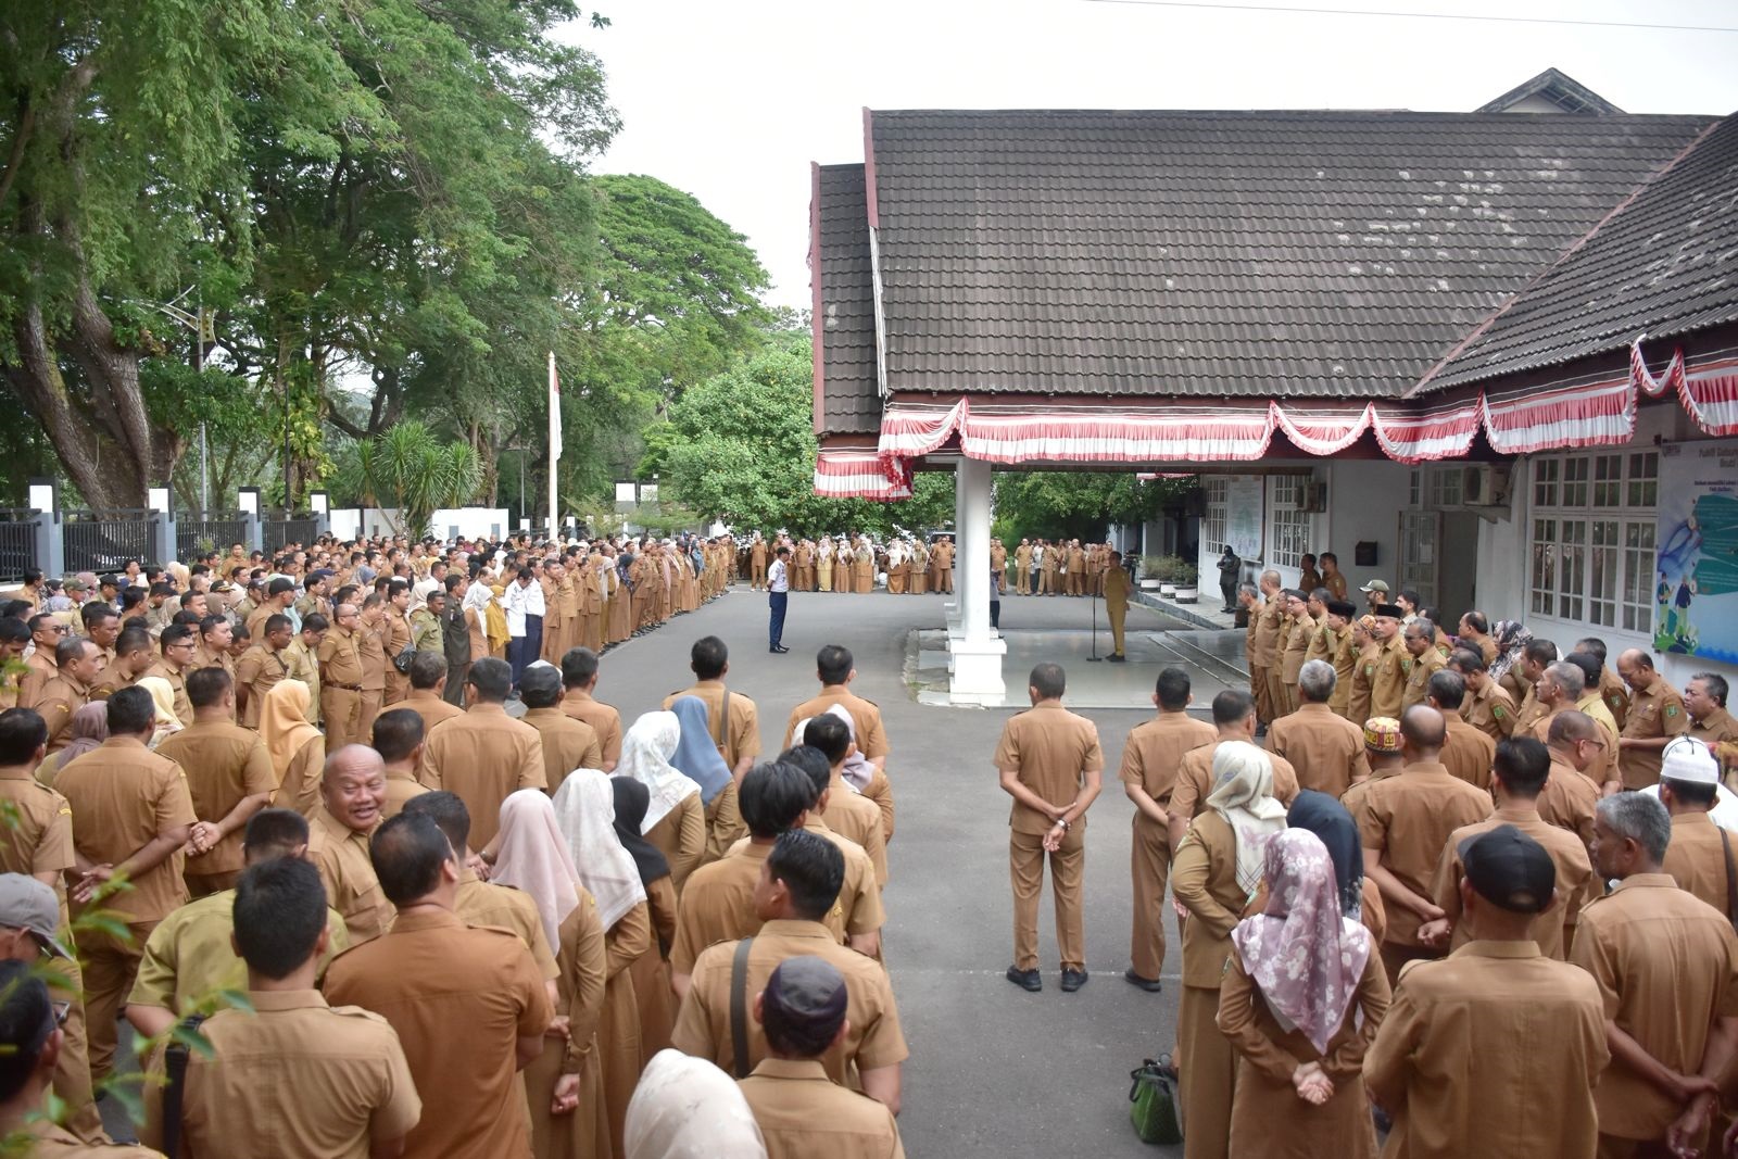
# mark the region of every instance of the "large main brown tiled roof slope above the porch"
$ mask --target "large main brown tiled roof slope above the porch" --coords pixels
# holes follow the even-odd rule
[[[1399,396],[1707,123],[871,113],[888,387]]]

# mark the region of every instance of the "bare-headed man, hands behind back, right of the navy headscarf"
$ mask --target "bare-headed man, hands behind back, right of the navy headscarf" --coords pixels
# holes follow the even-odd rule
[[[1401,966],[1413,959],[1437,957],[1418,940],[1420,926],[1443,917],[1430,898],[1430,881],[1449,834],[1491,813],[1491,794],[1444,768],[1446,735],[1436,709],[1422,704],[1406,709],[1401,718],[1406,768],[1373,784],[1352,815],[1364,843],[1364,872],[1375,879],[1389,914],[1382,963],[1390,978],[1399,978]]]

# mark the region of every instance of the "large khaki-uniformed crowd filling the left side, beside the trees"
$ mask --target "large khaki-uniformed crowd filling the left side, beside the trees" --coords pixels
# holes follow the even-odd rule
[[[850,652],[775,759],[714,636],[655,711],[596,695],[610,643],[733,570],[728,539],[605,539],[235,553],[76,606],[96,584],[31,575],[0,608],[0,1133],[902,1154],[888,742]],[[122,1018],[130,1149],[97,1102]]]

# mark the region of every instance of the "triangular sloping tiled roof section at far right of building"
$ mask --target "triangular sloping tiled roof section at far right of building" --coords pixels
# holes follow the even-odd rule
[[[1703,134],[1422,387],[1446,389],[1738,321],[1738,116]]]

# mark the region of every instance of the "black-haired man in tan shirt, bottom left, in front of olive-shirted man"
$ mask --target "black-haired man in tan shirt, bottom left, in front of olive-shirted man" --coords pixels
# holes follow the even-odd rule
[[[328,945],[325,888],[313,865],[273,858],[235,895],[235,945],[252,1011],[224,1010],[191,1051],[182,1096],[200,1156],[398,1154],[422,1100],[398,1034],[381,1015],[327,1006],[315,989]]]

